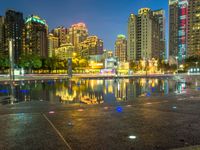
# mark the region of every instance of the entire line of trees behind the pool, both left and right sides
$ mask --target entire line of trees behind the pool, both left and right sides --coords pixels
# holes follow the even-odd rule
[[[157,63],[151,64],[153,66],[156,65],[158,70],[162,71],[175,71],[179,66],[177,64],[170,65],[168,62],[165,62],[164,60],[157,60]],[[76,55],[72,58],[72,69],[80,69],[80,68],[86,68],[89,66],[89,62],[87,58],[84,58],[80,55]],[[189,57],[186,59],[184,64],[184,70],[187,71],[189,68],[193,68],[196,66],[200,66],[200,57]],[[9,58],[3,55],[0,55],[0,70],[2,72],[8,70],[10,67]],[[149,62],[147,61],[145,64],[142,63],[142,61],[139,62],[131,62],[130,63],[130,69],[132,69],[134,72],[139,70],[145,70],[150,69],[152,66],[149,65]],[[51,58],[41,58],[40,56],[36,54],[28,54],[28,55],[22,55],[19,58],[19,61],[15,63],[15,68],[23,68],[28,73],[31,73],[32,71],[37,70],[47,70],[49,73],[53,73],[53,71],[57,70],[67,70],[68,68],[68,62],[67,59],[59,59],[57,57],[51,57]]]

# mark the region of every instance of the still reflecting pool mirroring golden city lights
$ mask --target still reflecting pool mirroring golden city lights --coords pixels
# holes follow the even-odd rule
[[[137,79],[73,79],[0,83],[0,104],[49,101],[102,104],[134,101],[137,97],[168,96],[200,91],[199,77]],[[13,96],[13,98],[11,97]]]

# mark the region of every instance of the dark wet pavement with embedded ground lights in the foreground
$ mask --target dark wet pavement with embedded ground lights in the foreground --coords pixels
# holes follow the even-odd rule
[[[199,91],[110,105],[0,106],[0,149],[199,149],[199,108]]]

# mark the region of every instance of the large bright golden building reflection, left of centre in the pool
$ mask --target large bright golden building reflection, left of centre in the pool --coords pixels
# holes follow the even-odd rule
[[[61,85],[56,91],[56,96],[65,102],[101,104],[103,103],[103,88],[101,87],[103,85],[101,84],[95,80],[71,81],[67,86]]]

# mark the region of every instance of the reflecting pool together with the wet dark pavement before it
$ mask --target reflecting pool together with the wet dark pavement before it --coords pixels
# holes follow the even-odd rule
[[[199,148],[200,76],[1,82],[0,149]],[[88,105],[89,104],[89,105]],[[192,147],[193,148],[193,147]]]

